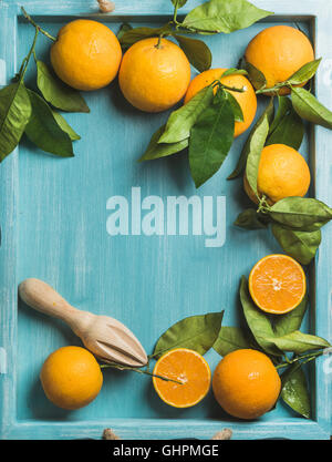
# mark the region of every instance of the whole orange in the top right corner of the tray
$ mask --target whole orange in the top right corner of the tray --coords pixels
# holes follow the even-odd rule
[[[267,88],[270,89],[287,81],[302,65],[313,61],[314,53],[303,32],[290,25],[273,25],[262,30],[251,40],[245,59],[263,73]],[[288,93],[290,90],[287,88],[279,91],[279,94]]]

